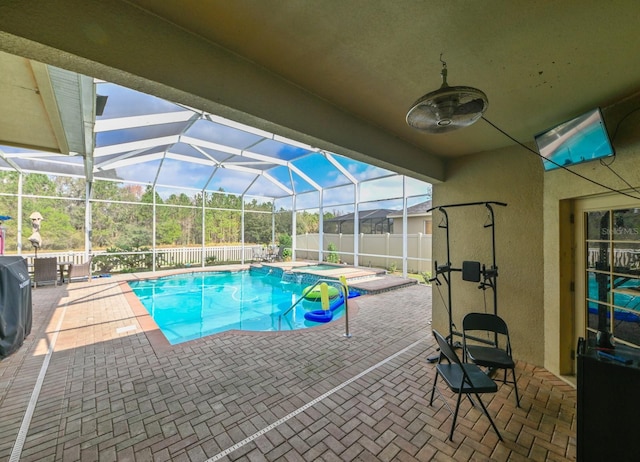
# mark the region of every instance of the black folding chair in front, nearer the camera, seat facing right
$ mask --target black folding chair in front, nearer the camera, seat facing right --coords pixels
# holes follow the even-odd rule
[[[473,394],[478,400],[478,403],[480,403],[482,412],[487,416],[489,422],[491,422],[491,426],[497,433],[498,438],[500,439],[500,441],[502,441],[502,435],[500,435],[496,424],[493,423],[493,419],[489,415],[487,408],[480,399],[480,395],[482,393],[495,393],[496,391],[498,391],[498,385],[496,385],[491,377],[485,374],[484,371],[475,364],[463,363],[462,361],[460,361],[460,358],[458,358],[458,355],[453,350],[453,348],[451,348],[444,337],[436,330],[433,331],[433,336],[436,338],[438,346],[440,347],[440,359],[438,360],[438,364],[436,364],[436,377],[433,380],[433,388],[431,389],[431,400],[429,401],[429,405],[433,404],[435,392],[436,390],[438,390],[438,394],[444,401],[445,406],[447,406],[447,409],[449,409],[449,412],[451,412],[451,414],[453,415],[453,422],[451,423],[449,440],[453,441],[453,430],[455,429],[456,420],[458,419],[458,410],[460,409],[460,401],[462,401],[462,395],[467,395],[467,397],[469,397],[470,394]],[[443,363],[442,361],[444,359],[446,359],[448,363]],[[438,377],[442,377],[451,391],[457,393],[458,398],[456,400],[455,411],[451,409],[449,403],[438,389]],[[472,404],[475,405],[473,400],[469,400]]]

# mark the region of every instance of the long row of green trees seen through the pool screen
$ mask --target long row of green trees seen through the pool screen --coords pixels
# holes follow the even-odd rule
[[[7,194],[0,195],[0,214],[13,217],[3,223],[7,251],[17,250],[18,228],[22,228],[22,248],[32,251],[28,241],[29,215],[34,211],[44,217],[40,229],[42,250],[84,249],[85,180],[24,174],[22,223],[17,221],[17,197],[9,195],[18,193],[18,182],[17,173],[0,171],[0,193]],[[91,246],[96,250],[150,248],[154,229],[159,246],[236,244],[243,238],[243,198],[227,195],[222,189],[193,195],[176,192],[167,197],[150,186],[98,180],[91,185],[91,201]],[[276,242],[283,248],[291,247],[293,212],[284,208],[275,210],[273,202],[256,199],[245,202],[244,210],[245,243],[269,245],[273,236],[277,236]],[[296,232],[318,232],[318,223],[317,213],[298,212]]]

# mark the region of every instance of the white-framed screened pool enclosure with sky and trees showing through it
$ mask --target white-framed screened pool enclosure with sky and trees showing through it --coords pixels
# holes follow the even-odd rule
[[[410,226],[425,218],[407,213],[431,199],[429,184],[45,67],[68,153],[0,146],[0,215],[11,217],[5,254],[94,255],[103,272],[245,263],[276,252],[430,270],[431,228]],[[394,217],[383,217],[385,232],[360,229],[360,217],[377,210]],[[44,217],[39,249],[28,240],[36,211]],[[336,217],[348,231],[324,232]]]

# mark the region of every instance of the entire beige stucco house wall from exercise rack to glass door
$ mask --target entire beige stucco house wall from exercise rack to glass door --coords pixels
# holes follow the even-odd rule
[[[638,203],[640,193],[629,185],[640,188],[640,134],[634,133],[640,113],[633,112],[639,106],[640,95],[636,95],[603,111],[609,133],[616,133],[611,167],[626,182],[598,162],[573,167],[588,179],[631,191]],[[580,323],[575,327],[571,292],[576,278],[573,203],[580,198],[620,195],[564,170],[545,173],[536,155],[517,146],[453,160],[447,165],[447,176],[445,183],[433,187],[435,206],[487,200],[508,204],[494,207],[498,314],[509,325],[514,355],[557,375],[573,373],[574,343],[577,336],[584,336],[579,331],[584,327]],[[463,260],[490,261],[488,231],[482,228],[486,212],[476,207],[448,209],[454,268],[461,267]],[[438,213],[433,212],[435,223],[440,223]],[[446,263],[445,232],[437,226],[433,232],[433,259],[441,265]],[[487,310],[493,308],[490,290],[483,293],[476,284],[462,281],[459,273],[453,273],[452,283],[453,322],[458,329],[466,312],[484,311],[485,297]],[[440,290],[446,298],[446,285]],[[435,295],[433,326],[448,332],[447,310]]]

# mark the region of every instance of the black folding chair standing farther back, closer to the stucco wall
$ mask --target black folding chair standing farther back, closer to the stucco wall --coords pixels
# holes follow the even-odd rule
[[[511,339],[507,323],[495,314],[469,313],[462,319],[462,344],[464,357],[474,364],[487,367],[491,371],[504,370],[504,378],[496,380],[513,384],[516,405],[520,407],[516,363],[511,356]],[[507,379],[507,370],[511,370],[513,380]]]

